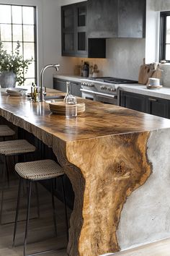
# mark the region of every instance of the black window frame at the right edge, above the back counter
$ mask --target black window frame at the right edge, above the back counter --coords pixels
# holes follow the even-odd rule
[[[170,17],[170,11],[160,12],[159,61],[166,60],[166,17]]]

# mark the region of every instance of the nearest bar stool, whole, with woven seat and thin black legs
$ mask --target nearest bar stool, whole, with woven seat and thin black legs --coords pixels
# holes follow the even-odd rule
[[[66,221],[66,231],[67,231],[67,239],[68,239],[68,218],[67,218],[67,209],[66,209],[66,196],[65,189],[63,185],[63,169],[59,166],[55,161],[46,159],[40,161],[32,161],[27,163],[17,163],[15,165],[15,171],[19,176],[19,189],[18,189],[18,199],[17,199],[17,210],[16,210],[16,218],[14,223],[14,236],[13,236],[13,246],[15,243],[15,236],[17,231],[17,221],[18,221],[18,213],[19,213],[19,202],[21,195],[21,186],[22,181],[27,180],[29,192],[27,197],[27,220],[25,226],[25,234],[24,234],[24,256],[26,255],[26,247],[27,247],[27,230],[30,219],[30,200],[31,200],[31,192],[32,192],[32,183],[38,181],[44,181],[49,179],[51,186],[51,195],[52,195],[52,205],[53,205],[53,221],[55,225],[55,234],[56,234],[56,219],[55,219],[55,202],[54,202],[54,193],[53,193],[53,179],[61,177],[62,187],[63,187],[63,201],[65,208],[65,221]],[[55,249],[50,249],[48,251],[43,252],[35,252],[33,255],[39,255],[45,252],[51,252]]]

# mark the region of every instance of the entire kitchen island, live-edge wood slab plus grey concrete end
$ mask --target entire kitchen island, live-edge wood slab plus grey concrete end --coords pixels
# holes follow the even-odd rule
[[[91,101],[84,114],[66,119],[48,103],[3,92],[0,115],[53,148],[71,180],[68,255],[98,256],[170,236],[169,119]]]

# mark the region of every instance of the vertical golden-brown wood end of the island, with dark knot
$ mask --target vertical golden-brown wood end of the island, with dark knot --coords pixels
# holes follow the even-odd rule
[[[120,249],[116,230],[122,206],[133,190],[146,182],[151,174],[151,164],[146,157],[148,136],[149,133],[144,132],[97,138],[90,143],[70,143],[67,158],[81,168],[81,176],[75,179],[76,169],[66,168],[76,195],[69,255],[78,255],[74,244],[78,237],[81,256],[97,256]]]

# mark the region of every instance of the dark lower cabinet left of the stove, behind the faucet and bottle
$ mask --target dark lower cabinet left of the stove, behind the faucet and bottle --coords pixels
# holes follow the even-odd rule
[[[53,77],[53,88],[56,90],[61,90],[62,92],[66,93],[66,82],[68,80],[61,80],[56,77]],[[81,97],[81,82],[71,82],[71,94],[77,97]]]

